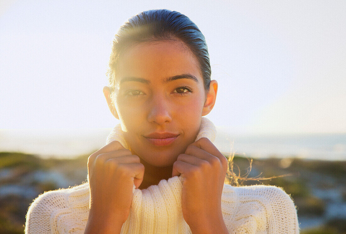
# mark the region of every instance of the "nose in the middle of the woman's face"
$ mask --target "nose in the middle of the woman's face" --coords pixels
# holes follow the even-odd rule
[[[153,97],[148,103],[148,121],[157,124],[169,123],[172,121],[170,102],[163,96]]]

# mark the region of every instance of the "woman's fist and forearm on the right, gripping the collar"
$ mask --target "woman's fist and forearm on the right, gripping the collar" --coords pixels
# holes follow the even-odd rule
[[[221,212],[227,164],[207,138],[190,144],[174,162],[172,176],[183,177],[182,210],[192,233],[228,233]]]

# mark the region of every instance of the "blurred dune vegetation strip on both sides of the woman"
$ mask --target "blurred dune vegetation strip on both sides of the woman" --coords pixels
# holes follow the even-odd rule
[[[87,159],[88,155],[74,159],[41,159],[23,153],[0,152],[1,233],[23,233],[27,208],[39,194],[85,181]],[[247,174],[249,159],[236,155],[234,163],[237,165],[234,167],[236,174],[239,172],[238,167],[240,175]],[[302,234],[345,234],[346,214],[330,215],[329,206],[338,202],[346,205],[346,161],[255,159],[248,176],[273,177],[286,174],[291,175],[240,182],[243,185],[282,187],[293,198],[302,224],[304,218],[322,217],[323,222],[319,227],[305,228]]]

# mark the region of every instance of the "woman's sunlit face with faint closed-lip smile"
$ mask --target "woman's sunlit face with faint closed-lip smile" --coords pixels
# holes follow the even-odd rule
[[[119,59],[116,82],[114,114],[125,139],[133,154],[153,166],[173,165],[215,102],[210,105],[197,59],[179,40],[128,48]]]

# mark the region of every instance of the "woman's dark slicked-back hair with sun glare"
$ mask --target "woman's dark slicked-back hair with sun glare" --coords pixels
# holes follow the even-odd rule
[[[120,27],[112,45],[107,72],[109,85],[115,87],[115,72],[121,52],[136,43],[157,40],[181,40],[199,62],[204,88],[209,90],[210,61],[206,39],[199,28],[185,15],[170,10],[143,11]]]

